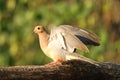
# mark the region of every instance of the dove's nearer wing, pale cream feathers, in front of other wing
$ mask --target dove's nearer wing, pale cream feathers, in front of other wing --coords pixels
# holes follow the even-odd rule
[[[49,41],[52,42],[53,40],[59,43],[60,48],[63,48],[70,53],[73,53],[76,48],[85,52],[89,51],[85,44],[82,43],[82,41],[80,41],[69,31],[66,31],[64,28],[57,27],[51,30]]]

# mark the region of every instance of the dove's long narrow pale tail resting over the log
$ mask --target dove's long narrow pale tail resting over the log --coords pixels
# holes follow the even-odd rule
[[[79,54],[77,54],[77,53],[67,54],[67,55],[66,55],[66,59],[67,59],[67,60],[77,59],[77,60],[89,62],[89,63],[91,63],[91,64],[94,64],[94,65],[99,66],[99,62],[96,62],[96,61],[94,61],[94,60],[92,60],[92,59],[89,59],[89,58],[84,57],[84,56],[82,56],[82,55],[79,55]]]

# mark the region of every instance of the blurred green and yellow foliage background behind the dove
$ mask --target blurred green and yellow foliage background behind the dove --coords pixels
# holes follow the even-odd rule
[[[36,25],[68,24],[96,33],[101,45],[80,54],[120,63],[120,0],[0,0],[0,66],[42,65]],[[46,27],[48,28],[48,27]]]

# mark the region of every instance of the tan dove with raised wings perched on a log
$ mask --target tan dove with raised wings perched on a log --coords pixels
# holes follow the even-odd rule
[[[98,64],[97,61],[80,55],[76,50],[89,52],[87,45],[99,46],[99,38],[96,34],[84,29],[70,25],[59,25],[52,27],[48,33],[44,26],[35,26],[34,33],[39,37],[39,44],[46,56],[54,62],[67,60],[81,60],[91,64]]]

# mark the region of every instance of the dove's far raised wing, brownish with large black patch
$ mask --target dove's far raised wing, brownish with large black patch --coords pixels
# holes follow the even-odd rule
[[[70,32],[74,36],[76,36],[79,40],[81,40],[85,45],[94,45],[98,46],[99,44],[99,38],[88,31],[85,31],[83,29],[72,27],[70,25],[60,25],[58,27],[59,29],[64,29],[65,31]]]

